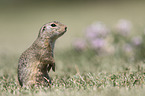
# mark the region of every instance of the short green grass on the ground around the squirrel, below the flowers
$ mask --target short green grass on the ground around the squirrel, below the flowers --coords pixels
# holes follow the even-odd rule
[[[21,88],[18,84],[17,63],[15,62],[18,57],[9,54],[1,55],[0,61],[5,65],[1,65],[4,69],[1,70],[3,72],[0,76],[0,95],[143,96],[145,85],[143,62],[135,64],[128,62],[127,64],[127,61],[123,62],[123,59],[119,60],[115,57],[112,61],[110,61],[110,57],[91,60],[90,58],[95,56],[91,56],[91,52],[89,54],[80,54],[73,50],[69,50],[69,52],[58,52],[55,55],[57,71],[50,72],[52,77],[50,87],[31,89]],[[10,61],[12,65],[8,67],[7,64]],[[106,70],[106,66],[108,70]],[[113,70],[113,67],[116,70]]]

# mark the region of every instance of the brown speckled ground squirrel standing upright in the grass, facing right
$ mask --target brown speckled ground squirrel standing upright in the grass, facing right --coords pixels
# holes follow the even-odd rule
[[[37,39],[20,56],[18,80],[21,86],[48,86],[51,83],[48,72],[51,68],[55,71],[54,44],[66,29],[67,27],[58,21],[41,27]]]

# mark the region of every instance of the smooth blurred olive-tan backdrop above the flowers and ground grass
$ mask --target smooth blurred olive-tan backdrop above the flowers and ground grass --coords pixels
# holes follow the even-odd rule
[[[68,26],[56,42],[56,51],[71,48],[71,42],[96,21],[113,27],[124,18],[143,28],[144,9],[143,0],[1,0],[0,52],[22,53],[37,38],[40,27],[54,20]]]

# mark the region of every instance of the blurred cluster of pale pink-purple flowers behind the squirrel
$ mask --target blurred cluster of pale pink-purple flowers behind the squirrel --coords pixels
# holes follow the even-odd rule
[[[85,30],[84,39],[76,39],[73,47],[77,51],[94,50],[99,54],[119,53],[132,54],[136,48],[143,46],[142,35],[132,35],[132,23],[121,19],[115,30],[110,30],[102,22],[89,25]]]

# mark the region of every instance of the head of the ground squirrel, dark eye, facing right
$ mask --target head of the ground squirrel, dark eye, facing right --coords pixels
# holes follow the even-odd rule
[[[58,37],[62,36],[67,31],[67,27],[58,21],[53,21],[44,24],[40,31],[38,37],[50,38],[56,40]]]

